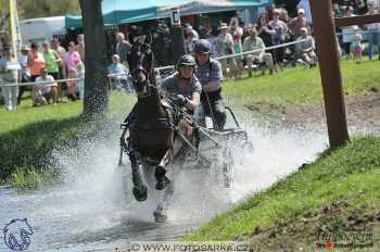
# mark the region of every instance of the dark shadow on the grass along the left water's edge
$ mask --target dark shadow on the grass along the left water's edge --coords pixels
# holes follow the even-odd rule
[[[9,179],[17,168],[42,171],[53,167],[51,151],[74,140],[88,122],[84,116],[30,123],[0,135],[0,180]]]

